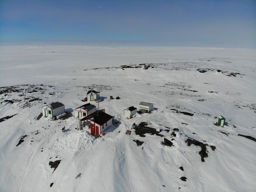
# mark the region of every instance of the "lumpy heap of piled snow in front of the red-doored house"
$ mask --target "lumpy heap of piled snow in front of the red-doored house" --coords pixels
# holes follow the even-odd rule
[[[58,137],[53,144],[53,149],[63,150],[67,152],[84,152],[92,149],[95,145],[103,142],[102,138],[95,138],[85,131],[73,132],[69,135]]]

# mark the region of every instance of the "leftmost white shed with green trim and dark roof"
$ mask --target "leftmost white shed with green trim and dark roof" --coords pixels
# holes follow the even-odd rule
[[[65,113],[65,106],[60,102],[51,103],[42,107],[42,113],[44,117],[54,118]]]

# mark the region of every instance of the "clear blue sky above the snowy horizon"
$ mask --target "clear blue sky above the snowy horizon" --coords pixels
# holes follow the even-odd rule
[[[256,0],[0,0],[0,44],[256,48]]]

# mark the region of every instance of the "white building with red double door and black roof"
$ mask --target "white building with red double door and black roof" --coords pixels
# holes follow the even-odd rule
[[[105,113],[105,110],[99,110],[81,119],[81,130],[100,135],[113,125],[112,122],[113,116]]]

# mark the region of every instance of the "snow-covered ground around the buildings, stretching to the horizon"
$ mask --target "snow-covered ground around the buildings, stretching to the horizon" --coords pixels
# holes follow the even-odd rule
[[[256,191],[255,61],[255,49],[0,47],[0,191]],[[37,120],[43,103],[72,112],[91,88],[121,122],[104,136],[77,131],[74,117]],[[155,110],[123,117],[141,101]],[[125,134],[140,122],[163,137]],[[204,162],[188,138],[207,144]]]

